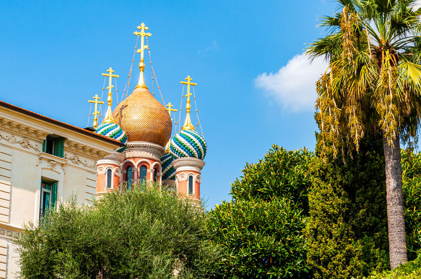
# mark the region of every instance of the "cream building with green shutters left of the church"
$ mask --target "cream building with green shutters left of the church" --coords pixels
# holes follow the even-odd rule
[[[38,223],[56,197],[88,204],[96,194],[96,161],[122,144],[0,101],[0,278],[16,278],[11,240]]]

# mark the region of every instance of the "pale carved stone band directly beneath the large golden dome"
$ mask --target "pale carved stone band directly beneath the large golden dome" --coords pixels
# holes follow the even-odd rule
[[[165,148],[161,145],[146,141],[127,142],[127,147],[123,151],[126,158],[149,158],[161,162],[161,157],[165,153]]]

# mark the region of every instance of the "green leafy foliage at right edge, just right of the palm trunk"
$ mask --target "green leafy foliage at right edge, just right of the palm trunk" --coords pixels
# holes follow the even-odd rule
[[[401,164],[408,259],[413,260],[421,249],[421,152],[402,150]]]

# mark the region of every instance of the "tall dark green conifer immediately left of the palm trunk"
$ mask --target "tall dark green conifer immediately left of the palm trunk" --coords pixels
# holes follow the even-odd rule
[[[325,162],[313,159],[306,235],[315,278],[361,278],[389,267],[382,154],[381,140],[363,140],[346,164],[331,150]]]

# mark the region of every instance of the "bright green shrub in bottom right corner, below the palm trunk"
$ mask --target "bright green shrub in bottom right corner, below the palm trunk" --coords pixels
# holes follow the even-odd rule
[[[370,279],[419,279],[421,278],[421,254],[412,262],[401,265],[392,271],[376,273]]]

